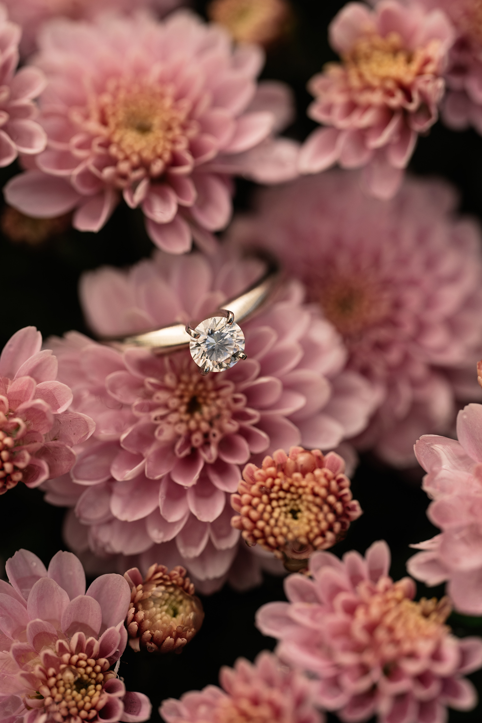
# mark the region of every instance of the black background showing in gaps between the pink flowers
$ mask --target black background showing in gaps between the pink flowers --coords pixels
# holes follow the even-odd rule
[[[305,112],[311,99],[306,82],[325,62],[335,59],[327,44],[327,26],[344,3],[292,0],[291,4],[291,35],[268,52],[262,77],[291,85],[298,117],[287,133],[304,140],[314,128]],[[195,6],[205,14],[205,2]],[[1,170],[0,184],[3,186],[18,170],[15,166]],[[455,133],[436,124],[427,137],[419,140],[410,170],[449,179],[460,190],[460,210],[481,216],[482,138],[475,132]],[[249,208],[254,186],[247,181],[237,183],[236,208]],[[70,329],[88,333],[77,300],[79,275],[103,264],[130,265],[149,256],[151,251],[142,215],[125,205],[117,208],[98,234],[69,229],[39,247],[0,236],[1,347],[26,325],[37,326],[44,338]],[[420,480],[420,470],[398,473],[370,455],[365,456],[353,480],[353,495],[361,502],[364,514],[333,552],[343,555],[348,549],[357,549],[363,553],[376,539],[386,539],[392,550],[392,576],[403,577],[405,561],[413,554],[408,545],[436,534],[425,515],[429,500],[420,489]],[[20,547],[32,550],[48,564],[55,552],[64,548],[63,517],[64,510],[47,505],[40,491],[22,484],[0,497],[0,576],[4,575],[5,560]],[[419,585],[418,593],[440,597],[443,586],[427,590]],[[272,638],[264,638],[254,628],[254,613],[265,602],[279,599],[284,599],[280,578],[267,576],[263,586],[245,594],[225,586],[217,594],[202,599],[205,622],[182,654],[155,658],[145,653],[134,654],[128,648],[119,675],[124,677],[128,690],[140,690],[150,697],[152,720],[158,722],[157,709],[164,698],[178,698],[187,690],[217,683],[221,665],[232,665],[238,656],[253,660],[262,649],[275,646]],[[482,632],[482,618],[452,615],[449,624],[460,636]],[[482,672],[471,678],[481,691]],[[335,716],[328,718],[335,721]],[[450,711],[449,716],[450,723],[481,719],[481,704],[470,713]]]

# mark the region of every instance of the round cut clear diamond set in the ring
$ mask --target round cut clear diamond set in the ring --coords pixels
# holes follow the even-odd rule
[[[189,343],[191,356],[199,367],[222,372],[239,360],[244,352],[244,333],[225,317],[210,317],[196,327],[199,337]]]

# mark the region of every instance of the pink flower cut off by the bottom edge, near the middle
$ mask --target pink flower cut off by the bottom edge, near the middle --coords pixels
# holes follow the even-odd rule
[[[238,658],[220,670],[220,684],[169,698],[159,713],[167,723],[322,723],[314,708],[309,681],[289,671],[267,651],[253,663]]]

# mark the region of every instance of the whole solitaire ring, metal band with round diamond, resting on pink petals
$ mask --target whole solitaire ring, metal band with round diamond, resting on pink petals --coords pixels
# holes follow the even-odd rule
[[[173,324],[135,336],[103,341],[119,349],[148,348],[156,355],[171,354],[189,346],[203,375],[233,367],[240,359],[246,359],[244,333],[239,322],[249,319],[270,298],[280,278],[279,265],[272,257],[256,255],[267,263],[262,277],[243,294],[226,301],[223,309],[214,310],[210,317],[193,324]]]

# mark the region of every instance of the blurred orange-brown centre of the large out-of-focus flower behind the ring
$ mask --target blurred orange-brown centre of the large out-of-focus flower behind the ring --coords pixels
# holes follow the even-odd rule
[[[361,333],[389,311],[387,294],[364,278],[335,278],[323,284],[319,301],[325,317],[345,336]]]

